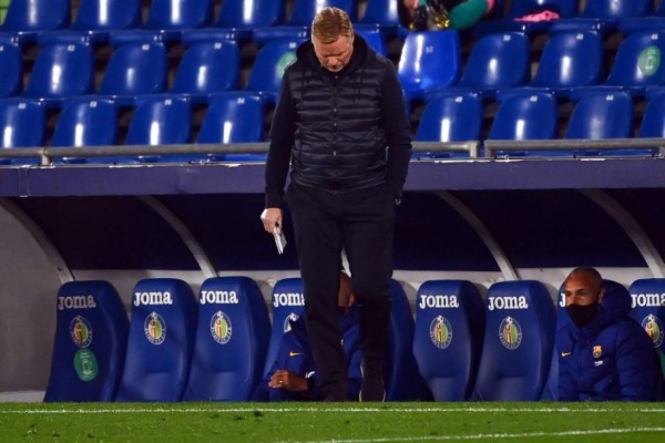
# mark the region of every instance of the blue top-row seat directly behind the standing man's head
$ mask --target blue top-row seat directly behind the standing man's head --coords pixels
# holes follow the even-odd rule
[[[351,21],[356,21],[357,19],[358,0],[294,0],[290,8],[290,16],[284,24],[257,28],[254,30],[252,39],[259,45],[278,39],[309,39],[314,17],[318,11],[327,7],[336,7],[345,10]]]

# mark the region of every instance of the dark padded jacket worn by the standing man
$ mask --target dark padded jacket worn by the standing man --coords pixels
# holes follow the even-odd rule
[[[296,54],[270,127],[266,207],[282,206],[289,161],[298,185],[349,192],[386,184],[400,198],[411,140],[392,63],[360,35],[340,72],[320,65],[310,41]]]

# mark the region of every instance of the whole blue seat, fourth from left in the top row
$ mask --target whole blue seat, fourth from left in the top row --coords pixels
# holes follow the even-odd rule
[[[219,17],[212,27],[183,32],[183,41],[227,39],[245,41],[253,31],[283,24],[286,19],[286,0],[224,0]]]

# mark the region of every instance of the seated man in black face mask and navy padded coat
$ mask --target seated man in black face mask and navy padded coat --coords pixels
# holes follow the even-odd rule
[[[564,282],[571,318],[556,331],[560,401],[662,400],[656,351],[628,317],[626,292],[606,291],[594,268],[577,268]]]

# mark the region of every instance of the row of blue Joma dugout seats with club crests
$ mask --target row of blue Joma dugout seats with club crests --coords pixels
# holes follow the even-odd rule
[[[632,317],[663,352],[665,279],[625,287],[606,280],[606,297],[632,297]],[[391,282],[389,401],[556,400],[556,324],[569,321],[539,281],[492,285],[483,300],[464,280],[423,282],[416,320]],[[198,303],[177,279],[136,284],[127,320],[105,281],[69,282],[58,293],[45,401],[246,401],[274,361],[288,320],[304,312],[298,278],[277,282],[273,321],[256,282],[216,277]],[[427,385],[424,384],[427,383]],[[429,390],[427,389],[429,388]]]

